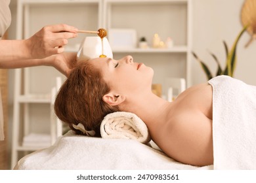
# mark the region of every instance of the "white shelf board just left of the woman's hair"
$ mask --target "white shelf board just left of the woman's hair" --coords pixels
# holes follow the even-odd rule
[[[51,103],[51,95],[20,95],[20,103]]]

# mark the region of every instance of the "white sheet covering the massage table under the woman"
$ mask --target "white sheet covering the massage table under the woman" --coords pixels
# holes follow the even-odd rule
[[[69,131],[51,147],[22,158],[14,169],[213,169],[184,165],[131,139],[101,139]]]

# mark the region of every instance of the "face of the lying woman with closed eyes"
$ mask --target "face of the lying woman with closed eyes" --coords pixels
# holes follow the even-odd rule
[[[119,60],[111,58],[95,58],[89,60],[100,69],[103,79],[110,90],[122,94],[151,90],[154,71],[143,63],[136,63],[132,56]]]

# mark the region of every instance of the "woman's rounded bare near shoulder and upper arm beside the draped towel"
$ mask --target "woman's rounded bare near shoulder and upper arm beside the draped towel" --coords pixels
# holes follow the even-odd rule
[[[209,165],[213,161],[212,120],[199,110],[181,110],[162,127],[159,142],[177,161]]]

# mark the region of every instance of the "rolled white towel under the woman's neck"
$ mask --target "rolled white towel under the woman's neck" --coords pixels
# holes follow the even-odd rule
[[[133,139],[148,143],[150,135],[146,124],[131,112],[113,112],[104,117],[100,125],[103,139]]]

